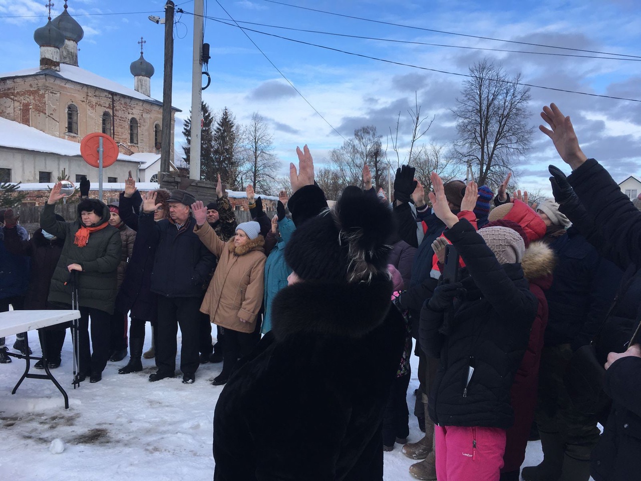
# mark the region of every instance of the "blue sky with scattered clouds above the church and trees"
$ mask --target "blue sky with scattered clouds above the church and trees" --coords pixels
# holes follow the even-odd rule
[[[520,52],[566,53],[604,56],[598,53],[564,51],[506,41],[451,35],[439,30],[476,37],[529,42],[605,53],[637,55],[641,45],[641,9],[633,0],[603,1],[383,1],[383,0],[283,0],[304,8],[324,10],[370,21],[312,12],[266,0],[206,1],[204,40],[211,45],[209,71],[212,85],[203,99],[213,110],[227,106],[237,121],[249,121],[253,112],[263,115],[274,135],[276,154],[283,162],[294,160],[297,145],[307,143],[320,164],[328,152],[339,147],[354,128],[373,124],[383,134],[383,146],[395,162],[386,135],[394,130],[401,113],[401,144],[410,134],[408,108],[415,92],[421,112],[435,117],[425,142],[450,144],[456,137],[450,109],[456,106],[463,77],[329,51],[247,31],[276,67],[303,94],[299,96],[236,26],[242,26],[303,42],[341,49],[360,55],[408,63],[428,69],[465,74],[469,66],[487,56],[501,62],[510,74],[520,72],[533,85],[578,90],[591,94],[641,100],[641,58],[610,60]],[[15,71],[38,64],[38,46],[33,30],[46,23],[43,0],[0,0],[1,71]],[[56,0],[53,16],[62,12]],[[144,37],[145,58],[153,63],[152,96],[162,99],[163,26],[147,19],[163,17],[164,1],[130,0],[105,3],[69,0],[69,12],[83,26],[79,43],[79,66],[123,85],[133,87],[129,63],[139,55],[138,40]],[[221,8],[225,8],[226,12]],[[176,0],[185,13],[177,13],[174,28],[173,105],[190,108],[193,1]],[[138,13],[140,12],[140,13]],[[29,15],[44,15],[29,17]],[[85,15],[89,14],[89,15]],[[22,15],[19,18],[8,16]],[[378,21],[378,22],[372,22]],[[262,25],[251,25],[254,22]],[[393,26],[380,22],[399,24]],[[382,40],[338,37],[322,33],[285,30],[279,26],[342,35],[385,38],[441,44],[426,46]],[[474,48],[461,48],[474,47]],[[641,177],[641,102],[591,97],[538,88],[531,89],[532,126],[538,126],[540,108],[554,101],[569,114],[588,156],[601,160],[620,181],[628,175]],[[323,121],[312,107],[327,120]],[[181,115],[178,115],[181,117]],[[330,126],[331,125],[331,126]],[[176,145],[183,141],[177,122]],[[403,160],[403,152],[401,152]],[[535,131],[532,149],[518,167],[519,186],[549,190],[547,165],[560,164],[551,142]],[[565,169],[569,171],[569,169]]]

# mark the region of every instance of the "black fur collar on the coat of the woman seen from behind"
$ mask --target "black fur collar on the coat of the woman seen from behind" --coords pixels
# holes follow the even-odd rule
[[[281,289],[272,303],[276,340],[296,333],[362,337],[379,326],[391,305],[392,282],[308,280]]]

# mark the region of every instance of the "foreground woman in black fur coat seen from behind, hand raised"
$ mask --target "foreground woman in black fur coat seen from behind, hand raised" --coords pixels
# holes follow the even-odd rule
[[[327,209],[309,150],[297,153],[294,272],[271,332],[219,397],[214,479],[382,480],[383,410],[404,341],[387,273],[392,214],[356,187]]]

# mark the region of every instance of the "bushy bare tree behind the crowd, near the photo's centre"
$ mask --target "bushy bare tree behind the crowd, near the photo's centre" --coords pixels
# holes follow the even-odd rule
[[[369,125],[354,130],[354,137],[333,149],[329,157],[343,185],[363,187],[363,165],[367,164],[372,171],[374,187],[387,188],[388,163],[376,127]]]

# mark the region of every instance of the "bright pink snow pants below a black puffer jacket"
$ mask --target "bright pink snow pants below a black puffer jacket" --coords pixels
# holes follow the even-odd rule
[[[505,430],[434,426],[438,481],[498,481]]]

